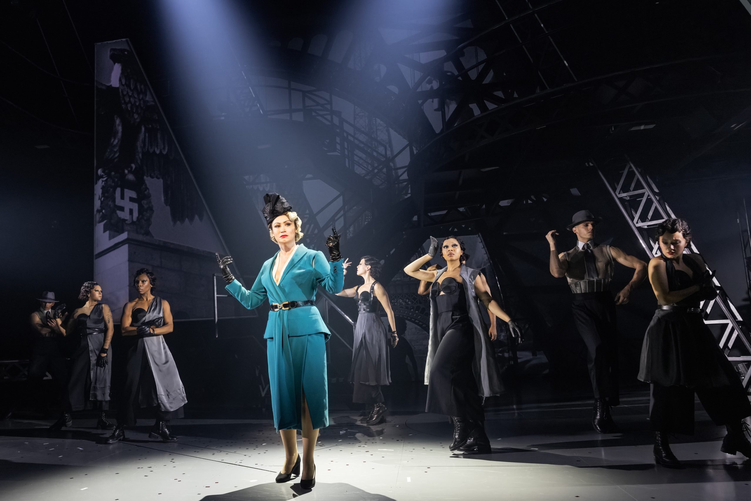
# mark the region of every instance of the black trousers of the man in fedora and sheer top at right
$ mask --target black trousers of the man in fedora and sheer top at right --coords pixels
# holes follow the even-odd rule
[[[595,398],[606,398],[611,406],[617,406],[618,331],[613,296],[608,291],[574,294],[572,313],[587,345],[587,366]]]

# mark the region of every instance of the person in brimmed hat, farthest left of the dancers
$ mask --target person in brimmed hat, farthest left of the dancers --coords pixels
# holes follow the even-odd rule
[[[68,361],[65,360],[62,336],[53,330],[51,323],[54,318],[64,318],[62,312],[65,305],[53,309],[58,300],[55,298],[55,293],[50,291],[42,292],[41,297],[37,299],[39,309],[33,312],[29,319],[35,340],[26,379],[38,387],[37,383],[44,379],[46,373],[50,373],[56,385],[59,385],[63,412],[56,423],[50,427],[50,430],[59,430],[64,426],[71,426],[72,423],[71,415],[68,412],[70,406],[68,399]],[[40,388],[36,389],[35,393],[38,394]]]

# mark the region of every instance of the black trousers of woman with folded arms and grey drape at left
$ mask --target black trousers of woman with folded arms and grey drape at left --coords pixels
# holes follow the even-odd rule
[[[173,411],[159,408],[154,374],[141,341],[137,340],[125,354],[125,385],[117,406],[117,424],[135,426],[138,407],[152,407],[156,421],[182,418],[182,407]]]

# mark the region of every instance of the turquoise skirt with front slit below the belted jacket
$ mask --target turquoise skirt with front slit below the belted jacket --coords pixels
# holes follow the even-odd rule
[[[303,391],[313,429],[327,427],[328,384],[324,333],[279,338],[267,339],[274,427],[276,430],[303,429]]]

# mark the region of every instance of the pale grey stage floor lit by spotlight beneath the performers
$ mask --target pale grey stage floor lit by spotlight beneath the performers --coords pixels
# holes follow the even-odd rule
[[[0,499],[751,499],[751,461],[719,451],[725,430],[704,412],[695,436],[674,440],[686,467],[655,466],[648,403],[643,392],[626,396],[614,409],[623,433],[611,435],[592,430],[588,401],[493,409],[493,454],[475,456],[448,451],[444,416],[389,415],[369,428],[333,412],[310,491],[299,480],[274,482],[283,451],[270,421],[182,419],[173,423],[177,444],[149,439],[151,422],[139,421],[115,445],[96,443],[105,433],[93,420],[56,433],[46,430],[52,421],[2,421]]]

